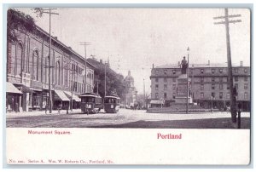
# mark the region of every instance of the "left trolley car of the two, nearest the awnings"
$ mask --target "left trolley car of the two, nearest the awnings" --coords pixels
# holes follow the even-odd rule
[[[102,109],[102,97],[94,93],[84,93],[81,98],[81,111],[83,113],[98,113]]]

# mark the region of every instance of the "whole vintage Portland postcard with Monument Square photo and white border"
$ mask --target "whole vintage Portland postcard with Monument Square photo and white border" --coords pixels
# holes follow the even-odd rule
[[[5,13],[8,165],[250,163],[250,9]]]

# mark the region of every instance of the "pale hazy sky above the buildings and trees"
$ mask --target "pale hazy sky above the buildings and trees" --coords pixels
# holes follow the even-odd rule
[[[49,32],[49,14],[37,18],[36,24]],[[52,35],[84,56],[81,42],[87,46],[87,58],[107,61],[115,72],[127,76],[131,71],[138,94],[150,94],[150,73],[154,66],[177,64],[187,55],[189,63],[225,63],[226,35],[224,25],[214,25],[213,17],[224,15],[224,9],[171,8],[58,8],[52,15]],[[232,63],[250,66],[250,11],[229,9],[241,14],[240,23],[230,24]],[[237,20],[236,18],[233,18]]]

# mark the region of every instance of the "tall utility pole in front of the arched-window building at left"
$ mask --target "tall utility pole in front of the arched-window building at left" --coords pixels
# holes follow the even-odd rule
[[[55,10],[55,9],[52,9],[52,8],[49,8],[49,9],[42,9],[40,13],[45,13],[45,14],[49,14],[49,74],[48,74],[48,77],[49,77],[49,113],[52,112],[52,95],[51,95],[51,83],[50,83],[50,77],[51,77],[51,74],[50,74],[50,69],[51,68],[54,68],[55,66],[51,66],[50,65],[50,60],[51,60],[51,14],[57,14],[57,13],[52,13],[51,10]]]

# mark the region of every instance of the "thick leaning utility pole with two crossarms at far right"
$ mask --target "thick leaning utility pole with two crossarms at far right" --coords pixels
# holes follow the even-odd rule
[[[232,73],[232,61],[230,50],[230,23],[241,22],[241,20],[230,20],[230,18],[241,17],[241,14],[229,15],[228,9],[224,9],[225,15],[213,17],[213,20],[224,19],[224,21],[214,22],[214,25],[224,24],[226,29],[226,43],[227,43],[227,60],[228,60],[228,84],[230,85],[230,110],[231,119],[233,123],[236,123],[236,100],[233,94],[233,73]]]

